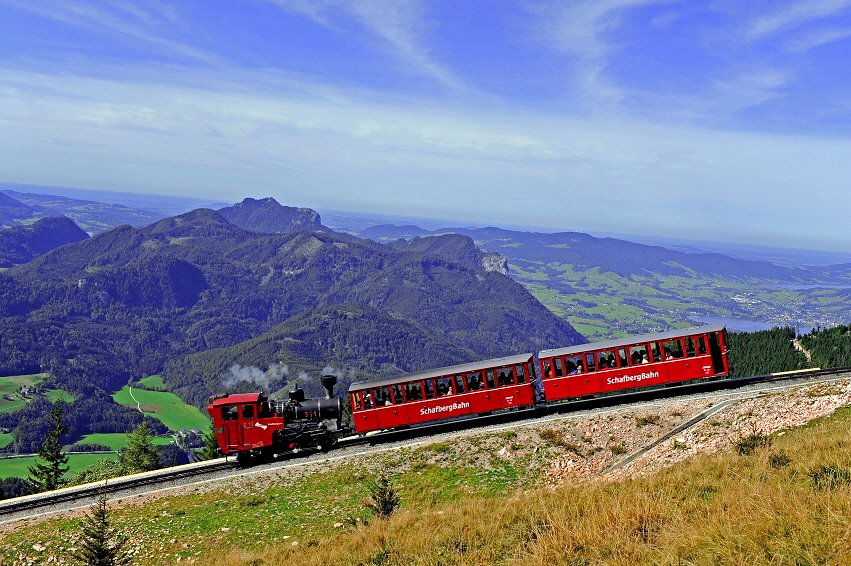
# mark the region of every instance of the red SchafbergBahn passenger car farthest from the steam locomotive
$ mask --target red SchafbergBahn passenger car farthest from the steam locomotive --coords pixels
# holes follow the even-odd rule
[[[548,401],[729,372],[723,325],[544,350],[539,363]]]

